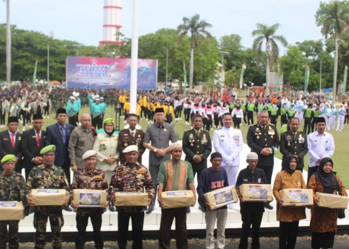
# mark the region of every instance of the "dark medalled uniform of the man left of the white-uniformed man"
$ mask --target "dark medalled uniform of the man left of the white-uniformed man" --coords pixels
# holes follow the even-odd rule
[[[202,128],[198,132],[199,134],[197,135],[195,129],[184,131],[182,140],[185,160],[191,163],[194,176],[197,172],[197,181],[199,181],[200,172],[207,168],[207,157],[212,151],[212,142],[209,132]],[[202,161],[195,163],[195,155],[202,155]]]

